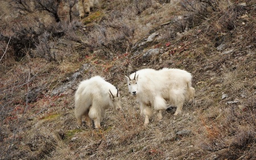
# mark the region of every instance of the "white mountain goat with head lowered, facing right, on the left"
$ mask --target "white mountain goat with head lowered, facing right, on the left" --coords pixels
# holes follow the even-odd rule
[[[109,107],[114,110],[121,109],[118,88],[100,76],[81,81],[75,93],[75,116],[80,126],[82,116],[85,116],[88,126],[91,126],[93,120],[95,128],[100,128],[105,110]]]

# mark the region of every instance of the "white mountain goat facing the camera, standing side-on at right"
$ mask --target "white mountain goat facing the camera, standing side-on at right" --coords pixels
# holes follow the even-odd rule
[[[156,120],[162,119],[162,111],[167,109],[167,102],[177,106],[174,115],[180,114],[185,100],[192,100],[195,89],[191,87],[191,73],[179,70],[163,68],[156,71],[143,69],[125,76],[129,92],[136,96],[141,104],[141,115],[144,115],[144,126],[147,126],[152,115],[150,106],[159,113]]]

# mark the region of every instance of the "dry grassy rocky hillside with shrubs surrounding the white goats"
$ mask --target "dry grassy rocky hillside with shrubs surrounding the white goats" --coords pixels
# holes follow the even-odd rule
[[[256,159],[256,2],[0,1],[0,159]],[[191,72],[196,97],[143,127],[125,75]],[[74,94],[100,75],[122,110],[77,127]]]

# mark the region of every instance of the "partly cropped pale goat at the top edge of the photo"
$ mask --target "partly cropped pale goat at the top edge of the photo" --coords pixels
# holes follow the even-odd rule
[[[84,18],[85,14],[90,14],[90,8],[94,5],[98,5],[98,0],[79,0],[76,7],[80,18]]]

